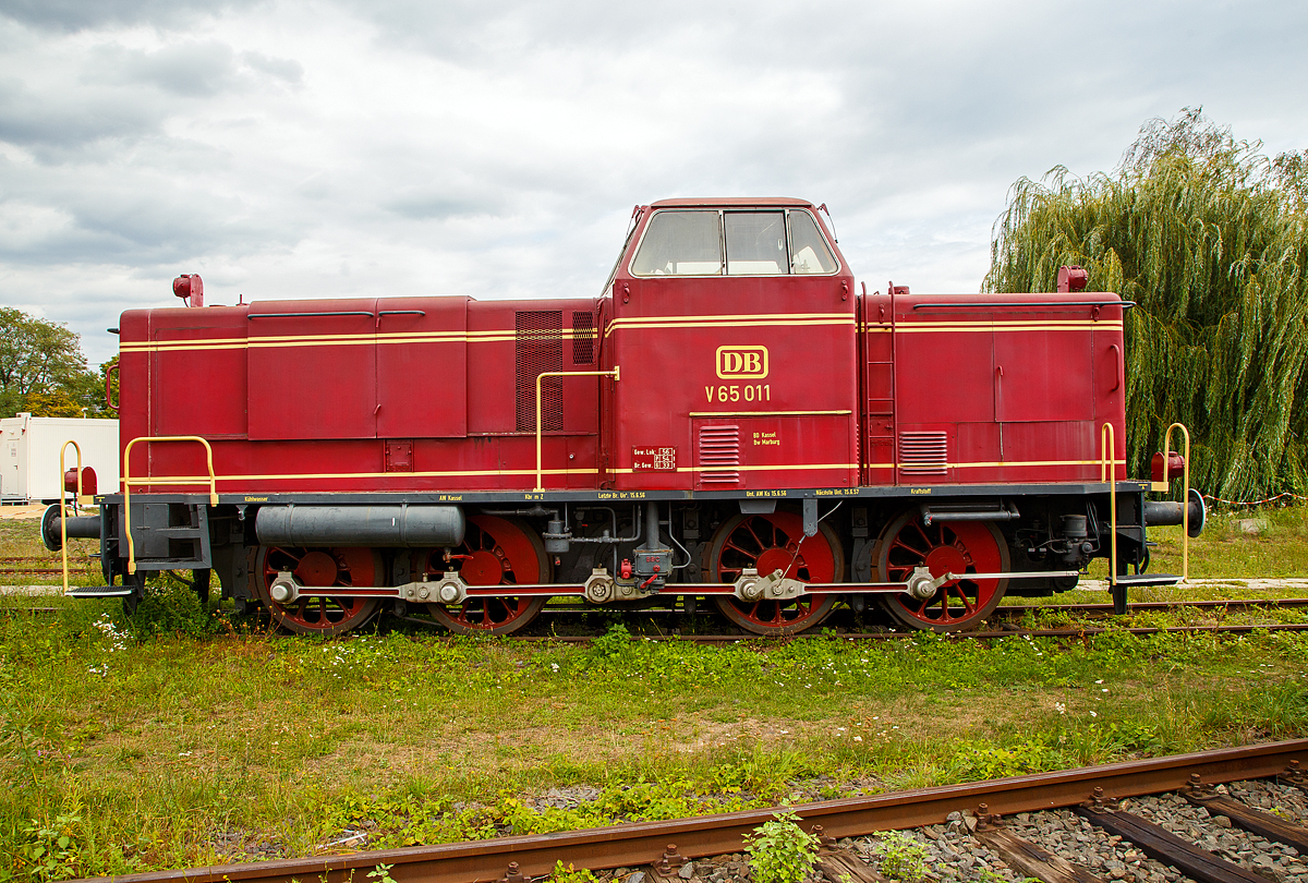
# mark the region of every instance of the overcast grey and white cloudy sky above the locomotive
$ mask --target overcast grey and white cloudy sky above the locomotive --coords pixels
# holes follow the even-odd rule
[[[0,305],[598,294],[632,207],[827,203],[977,290],[1008,188],[1202,105],[1308,148],[1308,4],[0,0]]]

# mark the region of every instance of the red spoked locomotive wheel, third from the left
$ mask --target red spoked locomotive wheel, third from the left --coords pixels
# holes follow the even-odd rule
[[[708,580],[735,582],[742,570],[760,576],[781,570],[799,582],[841,582],[845,555],[825,525],[804,536],[803,518],[791,511],[736,515],[725,522],[709,545]],[[836,606],[836,595],[802,595],[789,600],[713,599],[722,615],[755,634],[795,634],[818,625]]]

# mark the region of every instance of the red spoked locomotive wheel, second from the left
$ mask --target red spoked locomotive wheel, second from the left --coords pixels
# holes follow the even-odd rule
[[[470,586],[513,586],[549,582],[549,559],[536,531],[518,518],[468,515],[463,544],[445,560],[443,549],[415,556],[416,580],[439,580],[458,570]],[[523,628],[548,600],[544,595],[468,598],[459,606],[428,604],[432,616],[455,634],[509,634]]]

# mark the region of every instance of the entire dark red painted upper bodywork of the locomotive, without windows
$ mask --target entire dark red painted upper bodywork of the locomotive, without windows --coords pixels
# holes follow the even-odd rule
[[[704,205],[810,213],[837,267],[632,273],[659,208]],[[218,491],[255,498],[530,491],[536,374],[616,368],[543,381],[547,489],[1097,481],[1104,421],[1125,457],[1122,309],[1078,306],[1113,294],[859,298],[802,200],[646,207],[606,294],[131,310],[123,443],[203,436]],[[207,470],[166,442],[137,445],[131,474]]]

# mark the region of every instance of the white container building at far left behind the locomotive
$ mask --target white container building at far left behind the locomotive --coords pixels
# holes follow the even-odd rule
[[[82,467],[95,470],[99,493],[118,492],[118,421],[78,417],[33,417],[20,413],[0,420],[0,501],[42,502],[59,500],[59,449],[67,441],[81,447]],[[77,451],[68,446],[65,468],[77,466]]]

